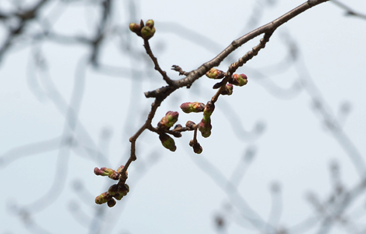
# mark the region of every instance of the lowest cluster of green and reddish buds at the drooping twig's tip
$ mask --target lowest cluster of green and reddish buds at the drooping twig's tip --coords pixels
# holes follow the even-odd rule
[[[117,171],[102,167],[102,168],[94,168],[94,174],[97,176],[108,176],[112,180],[119,180],[122,178],[122,170],[123,165],[120,166]],[[125,178],[127,177],[127,171],[125,172]],[[125,183],[117,183],[113,184],[109,187],[107,192],[102,193],[98,197],[95,198],[95,203],[97,204],[104,204],[107,203],[109,207],[113,207],[116,205],[116,200],[121,200],[127,193],[130,191],[128,184]]]

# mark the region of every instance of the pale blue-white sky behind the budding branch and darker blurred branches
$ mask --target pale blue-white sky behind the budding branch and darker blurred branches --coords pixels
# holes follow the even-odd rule
[[[9,1],[1,0],[0,7],[7,7],[9,3],[6,2]],[[226,220],[227,233],[259,233],[245,222],[241,215],[249,213],[222,180],[222,176],[229,179],[238,164],[244,173],[238,192],[264,220],[270,216],[273,204],[271,184],[279,183],[281,196],[275,197],[274,204],[282,207],[281,215],[276,215],[280,221],[277,223],[276,218],[272,221],[275,226],[286,228],[309,217],[317,219],[306,194],[312,191],[321,200],[328,198],[332,189],[330,162],[339,162],[346,188],[359,182],[357,170],[346,151],[325,127],[321,115],[313,108],[309,93],[299,85],[300,79],[314,82],[329,105],[330,113],[338,118],[365,161],[366,20],[345,17],[344,10],[327,2],[281,26],[264,50],[238,70],[247,74],[248,84],[234,87],[231,96],[219,98],[212,116],[212,135],[202,139],[199,134],[203,146],[201,155],[195,155],[188,146],[192,132],[185,132],[182,138],[176,139],[178,148],[170,153],[155,133],[146,131],[137,143],[138,160],[129,169],[130,193],[112,209],[94,204],[94,198],[106,191],[113,181],[95,176],[93,168],[117,169],[126,162],[130,149],[128,138],[142,126],[153,101],[145,99],[143,92],[164,85],[158,72],[153,71],[151,61],[145,61],[142,56],[131,59],[125,49],[121,51],[129,41],[132,49],[145,53],[142,39],[128,32],[127,2],[118,1],[114,5],[111,20],[113,26],[123,26],[126,31],[108,28],[110,34],[116,32],[116,36],[110,35],[104,42],[100,58],[102,64],[121,68],[113,70],[116,72],[98,72],[89,65],[85,69],[88,47],[50,40],[42,43],[29,43],[29,39],[24,43],[20,41],[2,58],[0,234],[28,231],[51,234],[99,231],[113,234],[215,233],[214,219],[218,214]],[[259,0],[159,3],[141,0],[135,1],[135,17],[136,22],[141,18],[155,20],[156,34],[150,40],[152,50],[163,70],[171,78],[178,79],[178,72],[171,71],[171,65],[177,64],[190,71],[212,59],[233,39],[253,29],[246,27],[253,9],[263,9],[260,11],[263,16],[256,25],[260,26],[302,2],[277,0],[270,7]],[[366,13],[365,1],[349,0],[345,4]],[[92,35],[100,16],[96,6],[81,2],[70,5],[53,2],[45,7],[44,14],[51,20],[55,32],[69,36]],[[32,24],[34,32],[40,30],[37,23]],[[5,32],[0,29],[1,40],[6,36]],[[281,61],[288,56],[288,40],[296,43],[299,55],[293,65],[283,66]],[[258,42],[259,38],[255,38],[240,47],[219,68],[225,71],[230,62]],[[44,58],[46,72],[34,68],[32,54],[35,52]],[[297,71],[301,71],[300,79]],[[132,74],[135,77],[132,78]],[[53,99],[47,96],[50,80],[65,104],[55,92],[51,92]],[[177,90],[163,102],[153,124],[157,124],[168,110],[180,111],[183,102],[206,103],[215,93],[211,89],[214,83],[202,77],[191,89]],[[65,127],[63,115],[67,106],[64,105],[69,105],[75,84],[82,87],[77,91],[82,96],[80,122],[75,130],[78,143],[68,152],[68,147],[59,148],[58,142],[62,134],[69,131],[67,125]],[[54,100],[59,104],[55,105]],[[340,111],[345,103],[350,104],[346,116]],[[184,125],[187,120],[198,123],[200,119],[200,114],[180,111],[178,123]],[[256,133],[256,126],[263,125],[264,131]],[[18,146],[46,140],[50,142],[41,148],[53,150],[9,161],[31,151],[27,148],[11,154],[12,149],[20,150]],[[87,152],[80,145],[92,150]],[[93,153],[95,149],[106,155],[107,161]],[[248,149],[255,150],[255,155],[245,164],[242,159]],[[62,160],[58,161],[58,158]],[[212,163],[221,174],[212,174],[205,162]],[[82,186],[78,187],[78,184]],[[47,194],[53,187],[56,189]],[[41,201],[34,205],[39,199]],[[51,201],[50,205],[47,205],[48,201]],[[40,203],[47,206],[40,209]],[[232,204],[231,209],[228,204]],[[30,216],[17,216],[15,207],[29,211]],[[347,212],[352,213],[357,207],[364,215],[354,219],[359,225],[365,223],[366,212],[362,208],[365,196]],[[95,215],[97,212],[103,214],[102,221]],[[38,226],[30,225],[34,223]],[[361,227],[365,228],[365,225]],[[317,233],[318,230],[315,226],[306,229],[305,233]],[[335,225],[331,233],[348,231]]]

